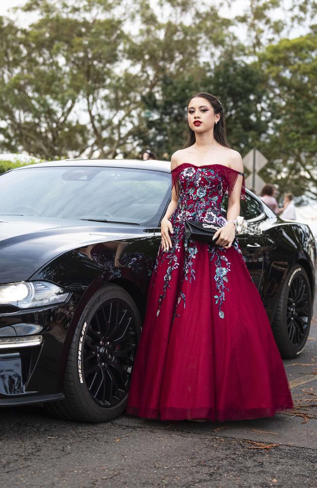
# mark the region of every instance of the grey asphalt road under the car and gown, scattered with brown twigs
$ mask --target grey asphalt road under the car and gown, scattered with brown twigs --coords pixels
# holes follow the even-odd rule
[[[107,424],[0,410],[0,487],[317,486],[317,299],[303,353],[284,362],[296,408],[243,422]]]

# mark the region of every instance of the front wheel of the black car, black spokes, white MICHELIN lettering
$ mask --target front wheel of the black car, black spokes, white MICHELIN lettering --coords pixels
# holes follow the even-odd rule
[[[78,422],[118,417],[126,407],[141,325],[127,291],[113,284],[99,289],[85,306],[72,339],[65,399],[46,404],[48,412]]]

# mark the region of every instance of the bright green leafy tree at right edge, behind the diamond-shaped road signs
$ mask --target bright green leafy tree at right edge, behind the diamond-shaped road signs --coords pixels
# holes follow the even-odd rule
[[[259,56],[270,92],[263,178],[282,191],[317,197],[317,31],[283,39]]]

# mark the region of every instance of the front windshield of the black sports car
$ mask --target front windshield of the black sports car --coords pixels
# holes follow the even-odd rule
[[[56,166],[0,176],[0,214],[157,226],[170,174],[146,169]]]

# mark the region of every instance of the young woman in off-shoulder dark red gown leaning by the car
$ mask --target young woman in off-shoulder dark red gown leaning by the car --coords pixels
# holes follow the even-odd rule
[[[270,417],[293,402],[266,310],[233,243],[245,199],[242,159],[226,142],[216,97],[194,95],[187,119],[188,141],[171,158],[172,200],[126,413],[162,421]],[[187,240],[186,219],[223,225],[215,244]]]

